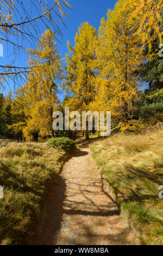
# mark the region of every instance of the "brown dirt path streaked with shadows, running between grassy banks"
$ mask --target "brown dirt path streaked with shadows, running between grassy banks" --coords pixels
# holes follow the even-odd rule
[[[49,198],[37,244],[127,244],[126,227],[116,205],[102,190],[89,149],[78,150],[65,163]]]

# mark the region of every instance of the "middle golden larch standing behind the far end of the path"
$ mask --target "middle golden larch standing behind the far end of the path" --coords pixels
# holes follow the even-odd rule
[[[75,36],[75,46],[68,42],[67,69],[63,86],[71,98],[68,104],[72,110],[88,111],[95,98],[94,80],[96,70],[93,69],[95,55],[96,29],[88,22],[82,23]],[[88,127],[85,139],[89,139]]]

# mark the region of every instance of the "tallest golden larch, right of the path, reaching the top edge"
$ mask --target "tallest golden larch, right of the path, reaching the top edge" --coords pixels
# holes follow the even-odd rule
[[[119,1],[102,19],[96,43],[96,100],[94,108],[108,110],[124,121],[131,118],[133,101],[141,86],[134,75],[143,61],[142,44],[137,27],[130,24],[131,10],[126,1]]]

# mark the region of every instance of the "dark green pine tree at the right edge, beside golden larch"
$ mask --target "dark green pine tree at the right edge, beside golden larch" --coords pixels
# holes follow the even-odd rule
[[[161,10],[163,17],[163,10]],[[160,24],[160,32],[163,31],[163,23]],[[163,39],[162,39],[163,41]],[[163,94],[159,93],[163,88],[163,57],[159,56],[159,39],[153,42],[151,51],[156,53],[153,62],[145,63],[139,70],[142,81],[147,82],[149,87],[142,95],[141,105],[139,104],[139,117],[141,119],[153,119],[155,121],[163,121]],[[144,54],[148,54],[148,46]]]

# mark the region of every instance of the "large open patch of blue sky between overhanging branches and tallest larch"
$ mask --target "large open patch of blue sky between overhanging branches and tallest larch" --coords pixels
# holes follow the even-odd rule
[[[67,40],[74,45],[74,36],[82,22],[89,22],[98,30],[102,17],[106,17],[108,9],[113,9],[116,0],[70,0],[72,10],[67,10],[68,18],[65,18],[67,29],[62,27],[64,40],[58,44],[61,56],[67,52]]]

